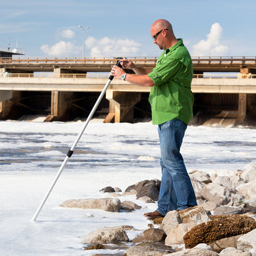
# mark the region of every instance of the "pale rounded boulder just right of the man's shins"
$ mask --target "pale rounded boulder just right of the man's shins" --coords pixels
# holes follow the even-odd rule
[[[226,186],[218,185],[215,182],[207,184],[202,190],[202,196],[204,196],[204,198],[208,201],[213,201],[220,206],[224,206],[230,202],[230,199],[228,198],[229,195],[230,191]]]

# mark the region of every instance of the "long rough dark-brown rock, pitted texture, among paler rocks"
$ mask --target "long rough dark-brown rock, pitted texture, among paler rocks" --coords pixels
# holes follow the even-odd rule
[[[222,238],[246,234],[256,228],[254,218],[245,215],[223,215],[212,217],[210,222],[201,223],[192,228],[183,237],[185,247],[193,248],[197,244],[211,244]]]

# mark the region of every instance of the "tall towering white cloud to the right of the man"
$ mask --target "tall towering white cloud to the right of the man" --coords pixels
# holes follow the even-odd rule
[[[201,40],[193,46],[193,56],[220,56],[228,54],[228,46],[220,44],[222,26],[219,23],[212,24],[207,40]]]

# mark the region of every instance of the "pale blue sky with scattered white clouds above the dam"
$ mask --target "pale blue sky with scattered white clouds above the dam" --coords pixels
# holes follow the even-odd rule
[[[24,57],[158,57],[150,27],[172,23],[192,57],[256,55],[255,0],[0,0],[0,46]],[[88,29],[86,29],[88,27]]]

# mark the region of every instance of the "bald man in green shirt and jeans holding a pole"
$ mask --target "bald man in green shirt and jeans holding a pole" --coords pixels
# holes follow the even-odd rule
[[[156,20],[150,33],[154,44],[164,50],[156,67],[147,70],[124,59],[120,60],[122,66],[134,70],[135,74],[126,74],[115,65],[111,75],[137,86],[151,87],[149,102],[152,122],[158,124],[162,180],[158,209],[145,216],[156,218],[165,216],[169,210],[183,210],[197,205],[193,186],[180,154],[186,127],[193,117],[193,64],[182,39],[175,38],[172,25],[167,20]]]

